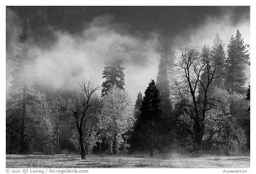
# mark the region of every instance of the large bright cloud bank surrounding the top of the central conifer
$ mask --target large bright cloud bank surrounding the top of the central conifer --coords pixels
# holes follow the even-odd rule
[[[121,25],[122,26],[122,25]],[[94,85],[101,85],[106,53],[118,43],[123,50],[125,67],[125,88],[136,99],[143,92],[150,79],[155,79],[158,70],[159,43],[157,33],[148,39],[122,34],[111,24],[111,17],[101,16],[92,21],[82,34],[57,31],[56,43],[50,49],[40,49],[37,63],[41,85],[50,89],[76,89],[82,78],[92,79]]]

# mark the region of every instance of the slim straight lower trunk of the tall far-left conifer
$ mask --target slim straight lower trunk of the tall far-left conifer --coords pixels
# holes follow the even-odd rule
[[[26,114],[26,87],[23,88],[22,115],[21,115],[21,134],[20,134],[20,153],[24,153],[24,134],[25,134],[25,114]]]

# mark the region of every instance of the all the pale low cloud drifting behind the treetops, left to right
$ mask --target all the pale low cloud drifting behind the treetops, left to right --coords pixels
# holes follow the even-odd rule
[[[18,22],[15,12],[7,8],[7,50],[6,50],[6,87],[10,86],[11,72],[14,68],[12,57],[19,42],[22,25]],[[216,31],[226,46],[231,35],[239,30],[244,42],[250,44],[250,20],[248,14],[240,16],[239,21],[234,22],[234,11],[230,10],[218,17],[207,17],[204,23],[191,28],[192,34],[199,48],[204,44],[212,46]],[[206,22],[205,22],[206,21]],[[158,31],[132,35],[131,26],[128,23],[116,22],[114,16],[102,15],[94,18],[91,22],[84,24],[84,31],[69,33],[68,31],[56,31],[48,26],[52,37],[51,46],[38,47],[37,72],[40,83],[44,89],[67,90],[77,89],[79,82],[83,79],[92,79],[94,85],[101,85],[105,80],[102,78],[104,61],[107,52],[118,43],[123,56],[123,67],[125,67],[125,88],[135,102],[137,93],[144,93],[151,79],[156,79],[160,50],[164,35]],[[32,26],[33,30],[33,26]],[[182,30],[183,32],[184,30]],[[13,35],[11,35],[13,33]],[[173,36],[173,49],[176,58],[180,57],[180,46],[184,33]],[[46,43],[47,44],[47,43]]]

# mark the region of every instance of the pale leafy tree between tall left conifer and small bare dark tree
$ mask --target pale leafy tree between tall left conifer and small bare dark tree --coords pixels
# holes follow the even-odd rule
[[[43,153],[52,154],[56,145],[56,154],[59,154],[59,129],[64,116],[68,114],[70,102],[64,99],[60,92],[55,93],[53,98],[44,93],[39,94],[36,104],[35,118],[37,119],[38,140]]]

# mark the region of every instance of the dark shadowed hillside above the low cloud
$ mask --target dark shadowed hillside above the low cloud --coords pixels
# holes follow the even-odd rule
[[[196,28],[208,17],[218,19],[228,13],[225,7],[207,6],[7,6],[6,8],[17,13],[20,23],[26,18],[30,19],[38,43],[54,39],[51,35],[52,29],[80,33],[90,21],[100,15],[114,16],[113,25],[128,23],[125,24],[128,31],[123,32],[147,37],[145,34],[156,30],[163,36],[168,35],[172,38],[188,27]],[[236,15],[232,15],[231,23],[235,24],[244,17],[250,17],[249,7],[237,6],[230,9],[237,12]]]

